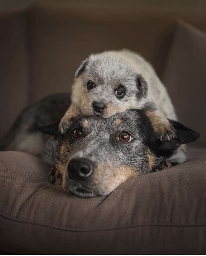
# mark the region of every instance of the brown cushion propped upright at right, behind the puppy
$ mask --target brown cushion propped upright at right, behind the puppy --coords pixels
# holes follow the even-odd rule
[[[163,82],[179,120],[200,132],[206,143],[206,33],[179,22]]]

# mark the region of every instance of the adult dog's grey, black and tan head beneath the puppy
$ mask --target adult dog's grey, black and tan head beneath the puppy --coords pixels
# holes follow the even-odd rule
[[[174,140],[156,140],[153,127],[141,110],[127,110],[110,118],[73,120],[66,133],[58,124],[43,128],[57,134],[47,144],[47,160],[53,165],[64,191],[82,197],[108,195],[130,177],[147,174],[180,144],[198,133],[173,122]],[[59,182],[59,181],[58,181]]]

